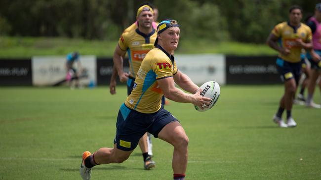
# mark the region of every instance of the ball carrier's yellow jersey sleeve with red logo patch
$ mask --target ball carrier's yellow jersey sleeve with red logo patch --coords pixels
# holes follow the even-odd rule
[[[152,60],[151,66],[154,73],[156,74],[156,79],[167,78],[173,75],[172,64],[169,60]]]

